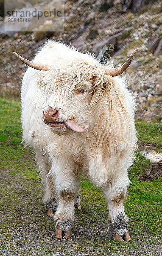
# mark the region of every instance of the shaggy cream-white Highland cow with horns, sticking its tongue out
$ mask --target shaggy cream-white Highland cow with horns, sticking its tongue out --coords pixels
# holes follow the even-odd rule
[[[123,200],[137,137],[134,99],[119,75],[136,50],[118,68],[55,41],[33,61],[15,53],[30,66],[22,81],[23,141],[36,152],[58,238],[72,236],[84,171],[102,188],[113,239],[130,240]]]

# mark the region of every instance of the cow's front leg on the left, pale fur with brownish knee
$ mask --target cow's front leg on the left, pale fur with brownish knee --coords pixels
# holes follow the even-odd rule
[[[80,182],[75,165],[69,163],[60,165],[59,163],[56,173],[58,206],[54,214],[57,238],[68,239],[72,236],[75,221],[74,209],[79,187]]]

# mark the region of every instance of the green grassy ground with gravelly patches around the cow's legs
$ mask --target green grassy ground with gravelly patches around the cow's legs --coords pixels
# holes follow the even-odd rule
[[[58,252],[66,256],[132,256],[143,244],[159,243],[161,179],[151,183],[138,181],[138,176],[150,165],[139,151],[129,170],[134,185],[130,184],[125,201],[132,240],[119,243],[110,239],[106,229],[108,210],[101,189],[96,189],[85,177],[81,178],[82,209],[75,209],[75,237],[67,241],[56,239],[54,221],[47,217],[42,204],[34,153],[19,146],[20,103],[0,99],[0,105],[0,255],[49,256]],[[159,126],[136,124],[139,144],[152,143],[161,151]]]

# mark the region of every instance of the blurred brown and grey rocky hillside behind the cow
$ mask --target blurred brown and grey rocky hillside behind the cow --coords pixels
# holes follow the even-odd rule
[[[19,0],[20,1],[20,0]],[[0,5],[3,9],[3,1]],[[50,5],[52,0],[37,1]],[[65,0],[63,32],[31,32],[5,34],[5,18],[0,17],[1,92],[13,93],[20,87],[25,65],[12,54],[19,52],[32,59],[47,38],[63,41],[80,51],[103,49],[104,58],[112,55],[115,65],[122,64],[134,48],[139,48],[127,73],[129,87],[134,91],[139,118],[160,119],[162,115],[162,1],[154,0]],[[22,8],[32,0],[21,0]],[[2,10],[1,9],[1,10]],[[106,48],[103,48],[106,46]],[[104,52],[106,49],[106,52]],[[101,57],[101,54],[100,54]],[[109,57],[109,56],[108,56]],[[138,63],[137,63],[138,62]],[[132,72],[133,71],[133,72]],[[5,88],[5,89],[4,89]],[[14,88],[14,95],[20,93]],[[144,111],[143,111],[144,110]],[[146,111],[146,112],[145,112]],[[149,112],[149,113],[148,113]],[[154,116],[156,114],[157,116]]]

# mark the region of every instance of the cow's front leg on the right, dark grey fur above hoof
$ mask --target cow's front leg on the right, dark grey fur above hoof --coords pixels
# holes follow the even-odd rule
[[[123,183],[123,184],[122,184]],[[128,217],[124,212],[123,201],[126,198],[126,187],[128,180],[117,180],[110,182],[104,187],[103,193],[109,207],[109,227],[112,239],[118,241],[129,241]]]

